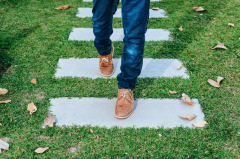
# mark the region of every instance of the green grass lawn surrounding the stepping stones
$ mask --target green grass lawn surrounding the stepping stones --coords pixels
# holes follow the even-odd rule
[[[55,8],[72,8],[57,11]],[[151,7],[167,11],[168,18],[150,19],[148,28],[165,28],[173,41],[146,42],[145,57],[178,58],[190,79],[139,79],[136,98],[180,98],[185,92],[197,98],[206,121],[204,129],[54,127],[42,129],[49,99],[56,97],[116,97],[117,80],[62,78],[54,73],[59,58],[98,57],[92,42],[68,41],[74,27],[92,27],[91,18],[77,18],[79,0],[0,0],[0,88],[9,93],[0,100],[0,138],[9,137],[10,149],[0,158],[239,158],[240,123],[240,2],[238,0],[162,0]],[[193,12],[202,6],[204,13]],[[201,15],[202,14],[202,15]],[[234,23],[235,27],[229,27]],[[121,27],[121,19],[114,19]],[[182,26],[184,31],[178,28]],[[217,42],[227,50],[212,50]],[[123,43],[114,42],[121,57]],[[225,79],[214,88],[207,79]],[[37,78],[38,84],[30,84]],[[169,95],[169,90],[179,92]],[[43,99],[36,96],[43,95]],[[38,111],[32,116],[27,104]],[[93,133],[89,130],[93,129]],[[159,137],[158,134],[162,134]],[[41,139],[39,136],[49,136]],[[98,139],[99,137],[99,139]],[[36,154],[38,147],[50,147]],[[70,147],[79,147],[76,154]]]

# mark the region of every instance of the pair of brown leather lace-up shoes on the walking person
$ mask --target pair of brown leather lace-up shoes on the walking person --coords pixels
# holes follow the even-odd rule
[[[104,77],[110,77],[114,72],[112,61],[114,47],[112,46],[111,53],[106,56],[100,55],[99,69]],[[115,117],[124,119],[130,116],[134,109],[133,91],[129,89],[118,89],[118,99],[115,106]]]

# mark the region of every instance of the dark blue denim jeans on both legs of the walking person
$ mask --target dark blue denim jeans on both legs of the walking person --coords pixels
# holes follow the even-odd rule
[[[100,55],[111,53],[112,20],[119,0],[93,0],[94,45]],[[118,88],[134,89],[143,64],[145,33],[149,19],[150,0],[121,0],[124,48]]]

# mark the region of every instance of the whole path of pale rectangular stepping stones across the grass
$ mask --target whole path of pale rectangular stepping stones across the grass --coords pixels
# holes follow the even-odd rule
[[[92,1],[92,0],[84,0]],[[158,0],[151,0],[158,1]],[[115,18],[121,17],[121,9],[118,9]],[[91,17],[91,9],[79,8],[77,17]],[[165,11],[151,11],[151,18],[166,18]],[[169,40],[170,32],[165,29],[148,29],[146,41]],[[123,29],[114,28],[111,36],[112,41],[122,41]],[[70,33],[69,40],[90,41],[94,40],[92,28],[74,28]],[[92,42],[91,42],[92,43]],[[82,59],[60,59],[55,73],[56,78],[88,77],[103,78],[99,73],[98,58]],[[116,77],[120,72],[120,59],[113,59]],[[151,59],[145,58],[141,78],[159,78],[159,77],[182,77],[189,78],[186,74],[186,68],[177,70],[182,65],[177,59]],[[79,88],[81,91],[81,88]],[[116,90],[117,91],[117,90]],[[161,98],[161,94],[159,94]],[[177,126],[192,127],[192,123],[198,120],[204,120],[201,106],[197,99],[193,99],[195,105],[190,106],[183,103],[180,99],[137,99],[135,109],[127,119],[117,119],[114,116],[116,98],[56,98],[50,99],[51,113],[55,115],[56,125],[92,125],[92,126],[119,126],[119,127],[155,127],[164,126],[173,128]],[[197,117],[192,121],[181,119],[178,115],[195,114]]]

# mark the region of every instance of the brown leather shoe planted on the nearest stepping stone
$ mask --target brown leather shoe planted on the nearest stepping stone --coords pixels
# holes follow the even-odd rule
[[[129,117],[134,109],[133,91],[129,89],[118,90],[118,100],[115,107],[116,118],[124,119]]]

